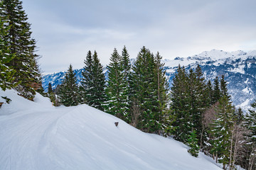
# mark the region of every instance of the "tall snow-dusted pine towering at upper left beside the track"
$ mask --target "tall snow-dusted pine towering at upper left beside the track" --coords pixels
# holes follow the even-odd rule
[[[39,73],[36,51],[36,41],[31,38],[31,24],[27,22],[28,17],[22,8],[22,2],[19,0],[3,0],[0,6],[0,15],[8,18],[4,27],[9,27],[4,40],[10,50],[10,56],[14,58],[6,64],[12,67],[14,73],[14,82],[21,84],[16,89],[21,96],[33,99],[36,94],[32,89],[31,82],[39,83],[41,74]]]

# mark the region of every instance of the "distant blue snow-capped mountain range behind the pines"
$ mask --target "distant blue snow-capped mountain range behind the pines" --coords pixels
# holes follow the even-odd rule
[[[225,80],[228,81],[228,91],[235,106],[241,107],[245,111],[256,99],[256,50],[250,52],[210,50],[199,55],[176,57],[174,60],[163,60],[163,62],[170,85],[178,64],[186,67],[186,70],[195,69],[199,64],[207,80],[213,80],[216,76],[225,76]],[[82,77],[81,72],[82,69],[75,70],[78,83]],[[64,72],[43,76],[43,88],[47,90],[50,82],[54,89],[61,84],[63,77]]]

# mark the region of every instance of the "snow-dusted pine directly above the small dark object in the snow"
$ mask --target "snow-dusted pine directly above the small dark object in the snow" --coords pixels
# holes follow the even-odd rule
[[[125,103],[127,102],[124,94],[124,72],[122,70],[121,57],[114,48],[114,52],[110,57],[110,65],[108,69],[107,80],[107,113],[116,115],[118,118],[124,119],[125,117]]]

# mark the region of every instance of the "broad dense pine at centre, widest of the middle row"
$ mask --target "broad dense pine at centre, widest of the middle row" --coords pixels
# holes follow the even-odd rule
[[[130,101],[139,110],[136,127],[145,132],[158,132],[159,125],[154,120],[157,111],[157,84],[155,77],[156,63],[149,49],[142,47],[134,62],[131,74]],[[132,117],[134,117],[132,113]]]

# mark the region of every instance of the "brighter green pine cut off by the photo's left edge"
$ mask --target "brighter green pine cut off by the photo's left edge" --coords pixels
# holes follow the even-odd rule
[[[0,6],[3,6],[3,1],[0,1]],[[10,54],[8,42],[4,39],[9,31],[9,27],[4,25],[7,23],[6,16],[1,16],[0,20],[0,88],[2,90],[11,89],[18,84],[14,84],[15,70],[7,64],[14,59],[15,55]]]

